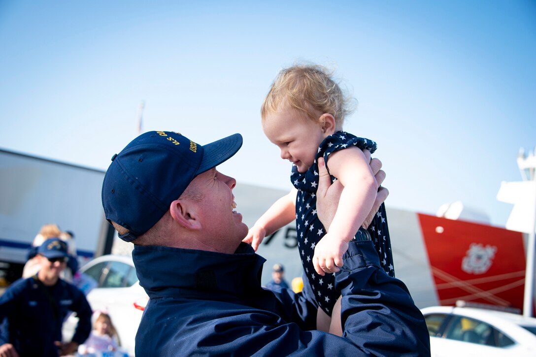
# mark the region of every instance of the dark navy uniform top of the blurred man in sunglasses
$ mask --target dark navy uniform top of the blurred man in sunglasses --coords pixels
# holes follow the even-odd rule
[[[19,279],[0,296],[0,345],[12,344],[20,357],[57,356],[54,341],[62,341],[63,321],[71,311],[79,318],[72,341],[83,344],[90,336],[91,307],[84,293],[61,279],[49,288],[50,299],[45,288],[33,277]]]

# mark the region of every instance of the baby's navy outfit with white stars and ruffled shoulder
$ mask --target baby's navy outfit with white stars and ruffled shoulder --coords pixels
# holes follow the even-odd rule
[[[322,144],[320,144],[315,162],[307,172],[299,173],[297,167],[294,165],[291,175],[291,181],[298,190],[296,197],[296,230],[303,270],[315,294],[316,303],[330,316],[333,306],[340,295],[334,289],[334,274],[326,273],[324,276],[321,276],[316,273],[312,264],[315,246],[326,234],[326,230],[316,214],[316,190],[318,188],[317,160],[319,157],[324,157],[326,167],[329,167],[329,155],[349,146],[367,149],[371,153],[376,151],[376,143],[372,140],[358,138],[347,132],[338,131],[325,138]],[[336,178],[331,176],[331,181],[333,182],[334,180]],[[391,240],[384,204],[379,208],[378,213],[376,213],[367,230],[378,252],[380,265],[386,273],[394,277]]]

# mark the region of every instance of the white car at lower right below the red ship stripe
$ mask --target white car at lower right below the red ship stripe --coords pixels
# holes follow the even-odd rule
[[[536,356],[536,318],[474,307],[434,306],[421,312],[432,357]]]

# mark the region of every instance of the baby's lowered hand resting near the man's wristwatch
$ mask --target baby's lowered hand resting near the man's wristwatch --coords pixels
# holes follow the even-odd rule
[[[343,254],[348,250],[348,242],[327,233],[315,246],[312,264],[318,274],[336,273],[343,266]]]

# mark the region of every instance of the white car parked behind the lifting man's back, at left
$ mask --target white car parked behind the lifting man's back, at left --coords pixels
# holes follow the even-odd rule
[[[103,255],[85,264],[80,272],[93,286],[86,295],[91,309],[107,311],[119,335],[121,349],[133,356],[136,332],[148,296],[139,285],[132,257]],[[64,340],[70,340],[76,322],[77,318],[71,316],[64,323]]]

